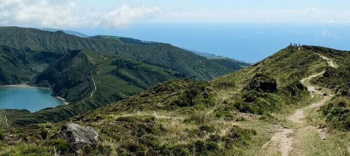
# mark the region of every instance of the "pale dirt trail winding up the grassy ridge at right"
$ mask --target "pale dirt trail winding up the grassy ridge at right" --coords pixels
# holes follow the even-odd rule
[[[319,55],[321,58],[327,61],[328,66],[331,66],[333,68],[336,68],[335,64],[333,61],[321,54],[316,53]],[[323,96],[324,93],[326,93],[326,96],[323,96],[322,99],[319,102],[310,104],[304,108],[297,109],[294,114],[291,116],[287,117],[289,121],[292,121],[296,127],[300,128],[287,128],[287,127],[280,127],[277,126],[277,132],[274,134],[274,136],[270,139],[270,141],[266,142],[263,146],[262,149],[268,149],[269,151],[278,151],[281,156],[299,156],[300,154],[296,152],[296,154],[292,154],[291,152],[293,151],[293,143],[295,142],[295,138],[297,138],[296,133],[297,130],[312,130],[318,133],[318,136],[321,139],[326,139],[327,133],[324,129],[319,129],[318,127],[312,126],[312,125],[307,125],[307,123],[303,120],[305,118],[304,110],[306,109],[319,109],[322,105],[326,104],[328,101],[331,100],[331,98],[334,95],[329,95],[327,91],[324,90],[315,90],[315,86],[308,86],[308,81],[311,80],[312,78],[315,78],[317,76],[321,76],[325,73],[325,70],[313,74],[307,78],[304,78],[300,80],[301,83],[303,83],[306,87],[308,87],[308,91],[312,92],[312,94],[319,94]]]

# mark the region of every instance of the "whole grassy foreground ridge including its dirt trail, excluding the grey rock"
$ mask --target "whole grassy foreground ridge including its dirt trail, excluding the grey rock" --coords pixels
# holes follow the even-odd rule
[[[58,148],[62,156],[347,156],[350,105],[342,86],[349,59],[346,51],[289,46],[210,82],[171,80],[68,121],[5,128],[4,136],[19,139],[4,139],[0,154],[52,155]],[[319,88],[308,91],[311,84]],[[325,105],[318,111],[317,104]],[[19,113],[1,115],[18,124]],[[73,151],[62,140],[42,138],[65,123],[92,126],[100,140]],[[326,139],[318,131],[324,127]]]

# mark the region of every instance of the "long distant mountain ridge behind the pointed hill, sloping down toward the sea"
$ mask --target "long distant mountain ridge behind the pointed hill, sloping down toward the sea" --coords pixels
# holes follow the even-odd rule
[[[225,66],[170,44],[105,35],[84,38],[34,28],[0,27],[0,45],[61,55],[72,50],[100,52],[181,71],[188,77],[205,81],[241,68],[235,64]]]

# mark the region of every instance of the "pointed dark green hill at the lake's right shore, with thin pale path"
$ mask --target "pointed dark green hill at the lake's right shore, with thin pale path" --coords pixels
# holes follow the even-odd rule
[[[121,100],[180,73],[143,62],[89,51],[71,51],[38,74],[34,86],[52,87],[70,102],[93,97],[102,103]]]

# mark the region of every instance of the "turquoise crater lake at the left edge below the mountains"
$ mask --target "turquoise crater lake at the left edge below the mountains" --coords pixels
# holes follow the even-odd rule
[[[0,86],[0,109],[27,109],[30,112],[64,105],[64,101],[51,96],[52,91],[37,87]]]

